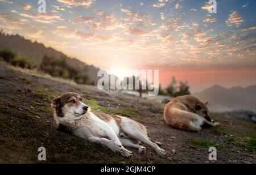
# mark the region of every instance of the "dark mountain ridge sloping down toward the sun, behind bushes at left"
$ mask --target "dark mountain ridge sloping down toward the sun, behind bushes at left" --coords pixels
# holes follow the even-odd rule
[[[4,33],[0,33],[0,49],[4,48],[13,49],[14,52],[16,52],[19,56],[29,59],[35,65],[40,65],[44,55],[55,58],[66,58],[69,65],[80,70],[85,70],[88,73],[89,78],[95,84],[99,79],[97,77],[97,72],[100,70],[98,67],[87,65],[86,63],[81,62],[79,59],[68,57],[51,47],[47,48],[42,43],[38,43],[36,41],[32,42],[31,40],[24,39],[23,36],[6,35]]]

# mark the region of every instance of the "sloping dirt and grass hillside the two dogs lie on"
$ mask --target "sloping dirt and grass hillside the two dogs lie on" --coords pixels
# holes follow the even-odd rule
[[[4,68],[3,68],[4,67]],[[256,125],[213,116],[221,125],[191,133],[166,125],[164,105],[97,87],[81,86],[0,62],[0,163],[42,163],[38,147],[47,151],[46,163],[210,163],[208,148],[217,148],[214,163],[256,163]],[[143,123],[152,139],[167,151],[159,157],[133,151],[126,159],[98,144],[55,130],[53,97],[77,92],[94,112],[119,114]]]

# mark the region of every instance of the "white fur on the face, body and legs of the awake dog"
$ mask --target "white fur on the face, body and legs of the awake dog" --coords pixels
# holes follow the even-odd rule
[[[81,102],[80,102],[81,103]],[[132,119],[121,117],[121,122],[115,122],[114,118],[105,122],[98,118],[94,113],[90,112],[90,108],[86,114],[82,113],[81,109],[84,103],[79,105],[79,108],[70,108],[67,105],[63,106],[64,117],[58,117],[55,114],[55,120],[57,124],[62,124],[68,127],[69,130],[76,136],[90,140],[91,142],[102,144],[113,152],[118,152],[122,156],[131,157],[131,151],[126,150],[123,146],[136,148],[139,153],[145,153],[146,148],[139,145],[139,141],[148,144],[158,155],[163,156],[166,151],[159,148],[159,146],[148,139],[146,127],[133,121]],[[81,106],[81,108],[80,108]],[[125,135],[125,137],[122,137]],[[132,140],[136,140],[137,143],[133,143]]]

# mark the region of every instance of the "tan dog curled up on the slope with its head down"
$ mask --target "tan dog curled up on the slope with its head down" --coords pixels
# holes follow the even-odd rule
[[[188,131],[200,131],[203,125],[217,126],[209,117],[207,103],[191,95],[172,99],[164,108],[167,124]]]

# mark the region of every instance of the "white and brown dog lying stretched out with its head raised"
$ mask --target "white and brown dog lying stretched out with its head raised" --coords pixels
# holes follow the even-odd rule
[[[123,146],[145,153],[146,148],[140,142],[154,148],[160,156],[166,154],[166,151],[150,141],[146,127],[141,123],[121,116],[96,115],[77,93],[64,93],[53,99],[51,106],[55,108],[54,118],[59,130],[71,131],[80,138],[102,144],[125,157],[131,157],[132,152]]]

